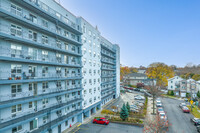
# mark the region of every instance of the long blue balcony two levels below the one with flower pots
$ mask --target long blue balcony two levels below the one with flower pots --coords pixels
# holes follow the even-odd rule
[[[81,101],[82,101],[82,98],[77,97],[77,98],[69,99],[68,101],[63,101],[62,103],[54,103],[54,104],[48,105],[48,108],[41,107],[41,108],[29,110],[29,111],[26,110],[26,112],[22,111],[20,114],[13,115],[13,117],[1,119],[0,132],[1,130],[4,130],[4,128],[10,128],[11,125],[12,127],[15,127],[15,125],[19,122],[25,123],[26,121],[30,121],[35,117],[39,117],[39,116],[41,117],[42,115],[55,112],[58,109],[65,108],[66,106],[69,106],[73,103],[78,103]]]

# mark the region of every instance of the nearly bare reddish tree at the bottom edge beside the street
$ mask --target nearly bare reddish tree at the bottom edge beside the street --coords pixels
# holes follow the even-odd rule
[[[160,119],[158,115],[145,120],[144,133],[166,133],[169,122],[166,119]]]

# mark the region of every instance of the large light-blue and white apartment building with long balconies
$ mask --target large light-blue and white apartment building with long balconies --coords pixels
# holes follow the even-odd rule
[[[117,98],[119,46],[101,42],[54,0],[0,0],[0,132],[61,133]]]

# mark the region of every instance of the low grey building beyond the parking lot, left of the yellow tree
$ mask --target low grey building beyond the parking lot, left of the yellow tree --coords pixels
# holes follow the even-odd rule
[[[151,85],[152,79],[148,79],[144,73],[130,73],[123,77],[126,85],[137,85],[137,83],[144,83],[144,85]],[[154,84],[156,84],[154,80]]]

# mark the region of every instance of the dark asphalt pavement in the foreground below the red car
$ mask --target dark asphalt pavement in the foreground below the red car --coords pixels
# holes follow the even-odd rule
[[[75,133],[142,133],[142,127],[109,123],[108,125],[83,124]]]

